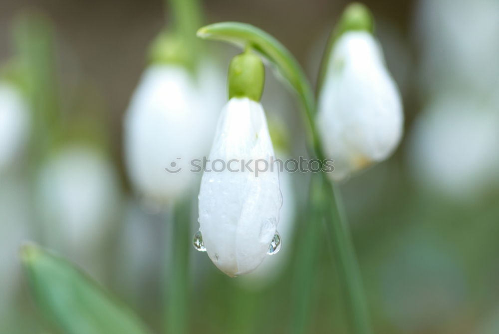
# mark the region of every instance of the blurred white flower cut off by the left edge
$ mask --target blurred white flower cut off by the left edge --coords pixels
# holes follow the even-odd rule
[[[29,130],[28,105],[12,85],[0,82],[0,170],[23,148]]]

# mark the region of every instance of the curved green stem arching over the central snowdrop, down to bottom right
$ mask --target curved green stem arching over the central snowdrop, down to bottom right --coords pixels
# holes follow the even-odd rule
[[[282,76],[296,91],[304,109],[304,118],[309,128],[309,146],[313,155],[324,161],[324,154],[315,126],[316,104],[308,78],[293,55],[277,39],[250,24],[239,22],[221,22],[210,24],[198,30],[198,36],[204,39],[222,40],[244,48],[247,44],[260,52],[273,63]],[[321,210],[333,240],[334,256],[339,267],[340,279],[350,308],[352,330],[357,334],[371,333],[369,313],[364,296],[359,265],[351,240],[348,226],[342,221],[334,186],[322,174],[322,183],[326,200]],[[336,191],[337,192],[337,191]]]

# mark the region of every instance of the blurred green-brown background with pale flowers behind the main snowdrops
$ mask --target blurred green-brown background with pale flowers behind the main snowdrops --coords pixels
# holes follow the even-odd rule
[[[340,185],[375,332],[499,333],[499,1],[364,3],[406,119],[396,153]],[[206,0],[203,23],[266,30],[314,82],[347,4]],[[21,273],[24,240],[77,263],[160,332],[169,210],[134,191],[123,124],[165,12],[159,0],[1,1],[0,333],[52,333]],[[203,43],[217,72],[206,80],[218,87],[210,94],[221,96],[213,102],[221,109],[228,61],[239,50]],[[293,134],[278,154],[306,155],[294,96],[270,71],[262,104],[271,123]],[[279,227],[278,265],[230,279],[191,250],[192,333],[289,333],[290,289],[300,272],[294,259],[309,251],[299,247],[307,194],[297,191],[308,176],[285,179],[291,204],[281,217],[289,224]],[[347,333],[322,238],[309,273],[307,333]]]

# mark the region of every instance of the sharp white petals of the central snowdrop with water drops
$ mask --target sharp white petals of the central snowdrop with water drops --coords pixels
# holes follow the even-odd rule
[[[274,156],[260,103],[234,97],[222,110],[209,159],[249,162],[251,170],[205,172],[199,223],[213,263],[227,275],[253,271],[267,256],[279,221],[282,196],[277,168],[255,173],[255,160]],[[231,167],[235,170],[235,167]]]

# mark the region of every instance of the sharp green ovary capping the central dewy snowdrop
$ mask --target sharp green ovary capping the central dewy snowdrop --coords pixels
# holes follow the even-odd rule
[[[229,99],[248,97],[258,102],[265,82],[263,61],[247,47],[245,52],[232,58],[228,79]]]

